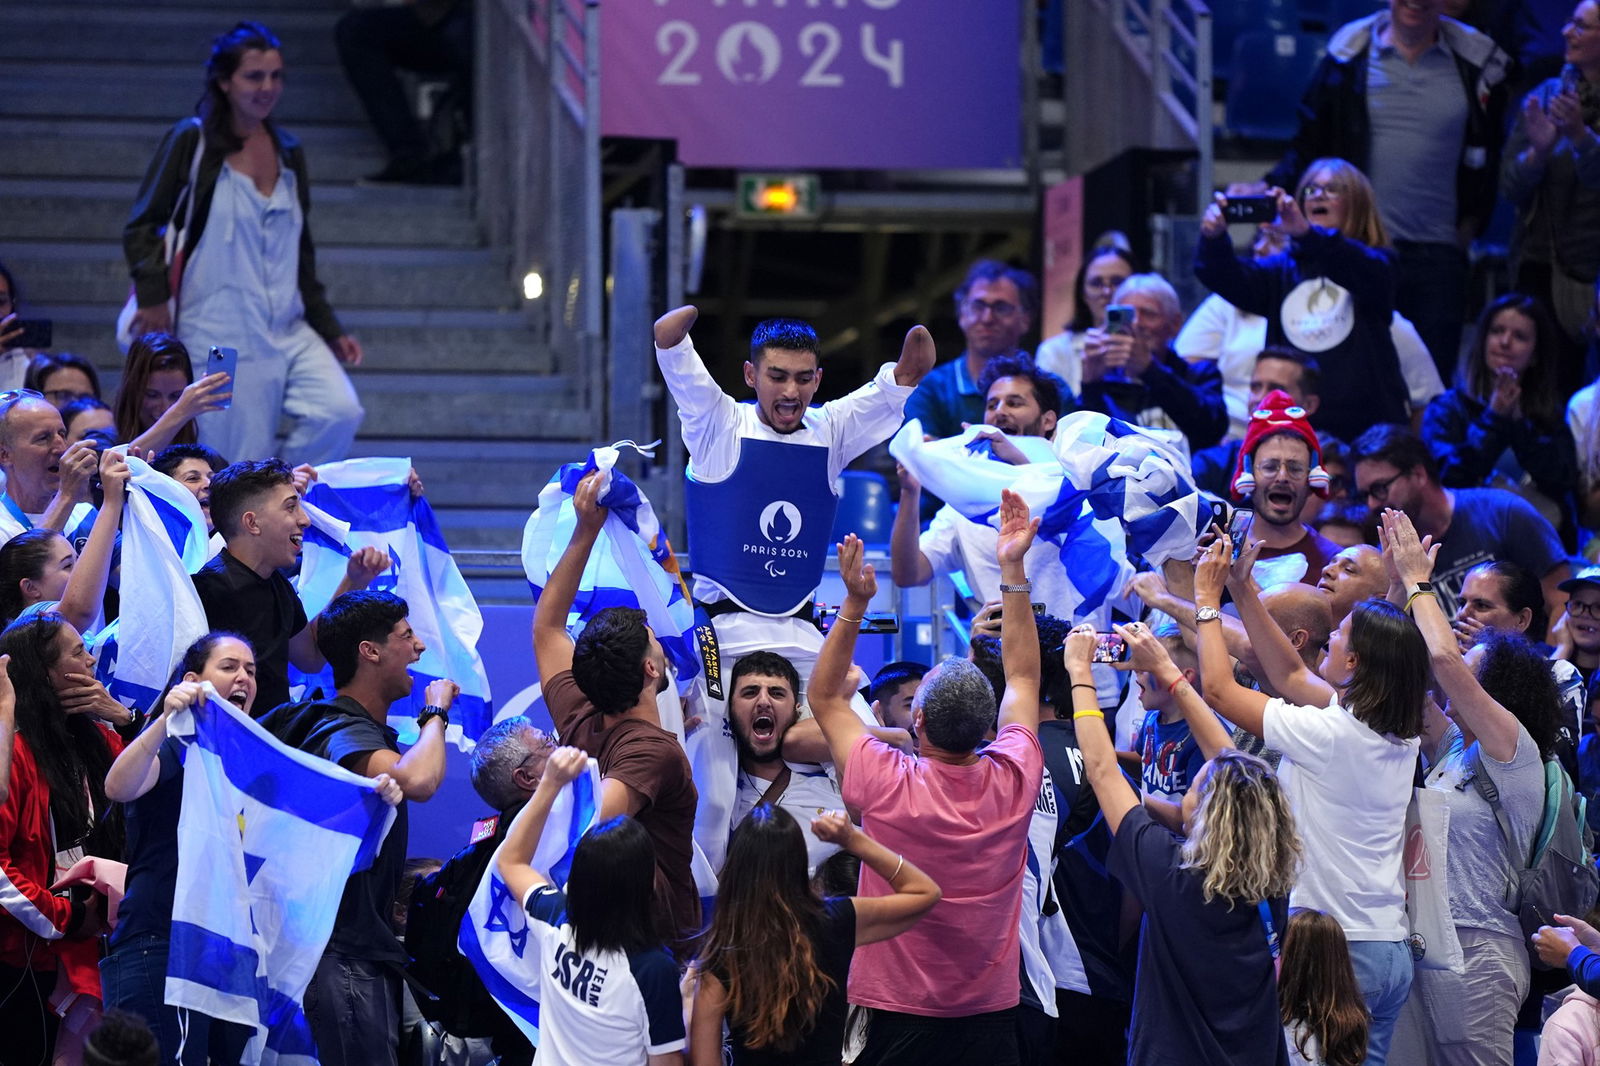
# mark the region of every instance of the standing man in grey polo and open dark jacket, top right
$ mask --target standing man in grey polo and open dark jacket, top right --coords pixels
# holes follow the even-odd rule
[[[1328,157],[1371,179],[1400,258],[1395,306],[1448,381],[1466,319],[1464,248],[1494,210],[1510,59],[1440,8],[1389,0],[1333,32],[1301,99],[1299,131],[1266,184],[1293,189]]]

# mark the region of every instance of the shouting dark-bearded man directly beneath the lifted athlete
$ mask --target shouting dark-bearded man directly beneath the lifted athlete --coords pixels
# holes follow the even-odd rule
[[[800,720],[800,674],[794,663],[773,651],[752,651],[733,664],[728,680],[728,720],[739,744],[739,791],[733,800],[730,831],[757,804],[786,808],[805,836],[806,869],[838,850],[819,840],[811,820],[843,807],[838,786],[822,767],[790,763],[782,757],[784,738]],[[813,722],[810,728],[816,728]]]

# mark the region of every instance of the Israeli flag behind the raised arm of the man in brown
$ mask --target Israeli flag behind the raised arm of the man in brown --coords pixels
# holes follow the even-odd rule
[[[522,568],[528,575],[533,602],[538,603],[550,570],[560,562],[578,527],[578,514],[573,511],[578,482],[594,471],[603,471],[600,506],[606,507],[605,527],[589,555],[566,627],[573,634],[581,632],[606,607],[643,610],[678,685],[686,688],[701,669],[694,645],[694,605],[683,587],[677,559],[654,507],[638,485],[614,469],[619,448],[624,447],[648,456],[651,445],[638,448],[632,440],[624,440],[595,448],[586,463],[568,463],[555,472],[539,491],[539,509],[523,528]],[[677,706],[675,699],[672,703]],[[670,717],[662,723],[667,720]]]

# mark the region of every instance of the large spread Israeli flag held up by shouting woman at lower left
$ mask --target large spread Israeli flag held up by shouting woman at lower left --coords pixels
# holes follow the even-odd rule
[[[315,1066],[301,1010],[354,871],[395,808],[373,781],[282,744],[206,687],[184,746],[166,1004],[251,1026],[248,1064]]]

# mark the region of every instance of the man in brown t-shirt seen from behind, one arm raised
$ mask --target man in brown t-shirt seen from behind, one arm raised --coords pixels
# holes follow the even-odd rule
[[[670,682],[661,642],[645,613],[629,607],[597,611],[574,645],[566,615],[589,562],[605,507],[600,475],[578,485],[578,528],[533,613],[533,656],[544,703],[563,744],[600,760],[600,820],[630,815],[656,845],[656,919],[664,936],[686,944],[701,925],[690,872],[699,794],[678,738],[661,728],[656,693]]]

